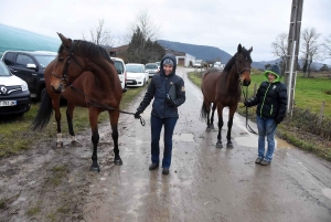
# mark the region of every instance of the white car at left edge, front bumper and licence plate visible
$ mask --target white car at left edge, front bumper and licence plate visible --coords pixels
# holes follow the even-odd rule
[[[0,61],[0,115],[23,115],[31,107],[28,84]]]

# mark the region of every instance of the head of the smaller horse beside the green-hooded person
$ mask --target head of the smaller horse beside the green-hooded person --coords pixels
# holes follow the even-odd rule
[[[239,81],[244,86],[250,84],[250,64],[253,62],[250,57],[252,51],[253,47],[247,51],[245,47],[242,47],[242,44],[238,44],[237,53],[235,55],[235,67],[239,75]]]

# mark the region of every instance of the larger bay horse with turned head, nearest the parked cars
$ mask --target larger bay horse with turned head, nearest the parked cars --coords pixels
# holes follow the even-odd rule
[[[114,141],[114,162],[122,165],[118,149],[119,105],[122,97],[120,81],[107,51],[92,42],[71,40],[57,33],[62,44],[57,57],[45,68],[46,92],[42,95],[41,105],[31,128],[43,129],[55,110],[57,124],[56,146],[63,147],[61,134],[60,99],[67,99],[66,118],[72,142],[75,142],[73,112],[75,106],[88,108],[92,129],[92,166],[90,171],[99,172],[97,146],[99,141],[98,115],[107,110],[110,118]]]

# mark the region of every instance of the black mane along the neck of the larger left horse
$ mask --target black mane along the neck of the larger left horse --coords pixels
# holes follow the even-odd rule
[[[88,55],[93,57],[102,56],[109,63],[114,64],[114,62],[110,60],[108,52],[105,50],[105,47],[100,45],[84,40],[74,40],[72,44],[74,44],[73,51],[82,56],[84,55]],[[60,45],[57,53],[60,54],[62,50],[64,50],[63,44]]]

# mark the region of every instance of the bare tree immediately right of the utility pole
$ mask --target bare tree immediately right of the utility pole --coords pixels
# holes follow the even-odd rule
[[[312,61],[320,59],[320,47],[321,44],[318,42],[320,33],[317,33],[314,28],[305,29],[301,34],[301,50],[302,53],[301,60],[303,61],[303,75],[306,77],[310,76],[310,66]]]

